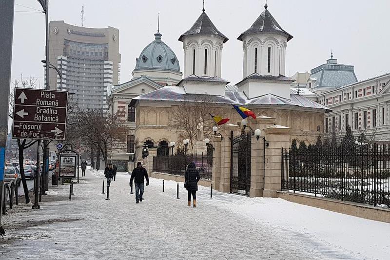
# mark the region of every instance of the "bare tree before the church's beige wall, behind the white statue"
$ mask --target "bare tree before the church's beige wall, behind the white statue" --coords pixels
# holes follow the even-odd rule
[[[192,99],[192,97],[195,98]],[[179,135],[183,139],[188,138],[190,140],[192,149],[194,149],[196,127],[200,118],[204,124],[204,137],[210,137],[213,133],[215,121],[210,117],[209,113],[212,115],[218,113],[214,99],[213,96],[209,95],[203,95],[201,97],[197,95],[188,95],[187,100],[181,101],[180,105],[173,110],[172,123],[177,126],[178,132],[180,132]]]

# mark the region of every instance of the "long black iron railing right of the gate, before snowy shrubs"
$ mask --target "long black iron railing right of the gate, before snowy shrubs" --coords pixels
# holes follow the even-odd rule
[[[390,207],[390,145],[282,149],[282,189]]]

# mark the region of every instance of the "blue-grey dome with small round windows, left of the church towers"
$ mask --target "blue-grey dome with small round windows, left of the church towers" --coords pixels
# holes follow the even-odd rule
[[[172,49],[161,40],[159,31],[156,39],[146,46],[139,58],[134,71],[137,70],[170,70],[180,72],[179,61]]]

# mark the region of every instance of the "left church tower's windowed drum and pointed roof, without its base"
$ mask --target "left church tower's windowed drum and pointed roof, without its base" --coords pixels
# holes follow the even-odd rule
[[[218,31],[204,7],[202,11],[194,25],[178,39],[184,48],[184,78],[221,77],[222,47],[229,39]]]

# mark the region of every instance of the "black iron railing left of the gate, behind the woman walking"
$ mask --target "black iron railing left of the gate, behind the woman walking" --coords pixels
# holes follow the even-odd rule
[[[203,155],[174,155],[153,157],[153,171],[184,176],[187,165],[193,161],[200,179],[211,180],[213,157]]]

